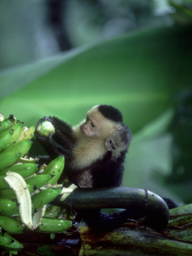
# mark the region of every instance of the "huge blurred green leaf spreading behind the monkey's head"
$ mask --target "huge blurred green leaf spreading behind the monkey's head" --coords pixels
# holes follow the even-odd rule
[[[27,125],[43,115],[76,124],[95,104],[122,110],[133,132],[172,106],[173,93],[190,86],[191,27],[153,28],[3,72],[10,95],[0,111]],[[24,81],[24,82],[23,82]],[[15,90],[15,91],[14,91]],[[8,91],[6,91],[6,94]]]

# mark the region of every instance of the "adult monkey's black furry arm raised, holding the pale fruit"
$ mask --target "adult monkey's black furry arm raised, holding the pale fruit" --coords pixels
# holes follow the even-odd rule
[[[41,143],[44,150],[51,158],[55,158],[57,155],[70,156],[75,142],[72,126],[56,117],[44,117],[39,120],[37,125],[44,121],[52,123],[55,127],[55,134],[49,135],[49,137],[43,137],[36,129],[35,136],[37,141]]]

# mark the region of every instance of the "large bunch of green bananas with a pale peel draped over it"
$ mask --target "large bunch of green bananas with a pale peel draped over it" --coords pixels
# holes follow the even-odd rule
[[[47,207],[61,193],[62,186],[56,183],[64,168],[64,156],[52,160],[43,173],[39,171],[36,159],[27,158],[34,131],[35,126],[27,129],[14,115],[5,119],[1,114],[0,247],[3,250],[22,249],[22,243],[10,234],[23,233],[24,229],[60,233],[72,226],[72,221],[57,218],[61,213],[59,207]]]

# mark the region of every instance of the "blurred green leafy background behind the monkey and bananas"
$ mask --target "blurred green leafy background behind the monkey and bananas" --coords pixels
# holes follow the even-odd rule
[[[191,203],[191,9],[1,0],[0,112],[27,126],[44,115],[76,125],[93,105],[114,105],[132,130],[123,185]]]

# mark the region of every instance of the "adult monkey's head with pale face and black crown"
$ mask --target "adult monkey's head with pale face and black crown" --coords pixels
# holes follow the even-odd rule
[[[87,112],[81,131],[88,137],[106,139],[122,125],[123,117],[118,109],[108,105],[97,105]]]

